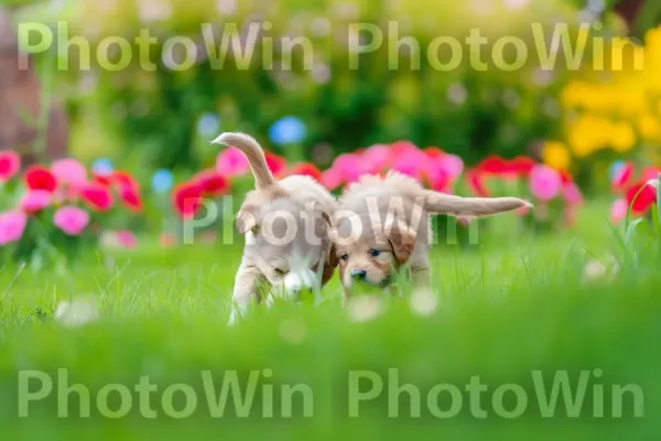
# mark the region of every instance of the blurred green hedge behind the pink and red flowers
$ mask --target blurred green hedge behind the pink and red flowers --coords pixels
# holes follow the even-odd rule
[[[567,23],[575,36],[581,22],[600,18],[603,33],[620,34],[625,30],[608,13],[609,3],[65,0],[52,8],[25,9],[19,20],[66,20],[69,37],[84,35],[93,51],[109,35],[132,41],[140,29],[149,29],[158,36],[150,52],[150,60],[159,62],[153,72],[140,68],[136,61],[121,72],[95,68],[93,63],[90,71],[59,73],[58,92],[67,95],[73,119],[72,152],[86,162],[98,157],[121,160],[136,173],[159,168],[191,173],[213,164],[217,151],[208,147],[208,140],[220,130],[253,133],[288,160],[318,168],[357,147],[399,139],[442,146],[467,164],[477,164],[488,154],[537,159],[540,142],[555,139],[562,129],[560,93],[574,75],[562,67],[566,66],[563,54],[553,71],[542,69],[531,51],[530,63],[517,72],[477,71],[467,65],[467,53],[466,63],[440,72],[424,54],[420,69],[411,69],[411,54],[404,47],[400,68],[389,69],[389,47],[383,44],[360,56],[359,69],[349,69],[348,25],[379,23],[386,29],[384,23],[397,20],[399,36],[415,37],[422,51],[436,36],[463,41],[477,28],[491,45],[502,35],[532,42],[533,22],[549,35],[556,23]],[[264,21],[272,29],[260,36],[310,39],[314,47],[311,68],[305,68],[295,51],[292,68],[284,68],[281,47],[275,44],[272,69],[266,69],[259,43],[250,68],[237,68],[231,54],[223,68],[213,68],[201,23],[213,23],[216,36],[223,25],[239,23],[246,36],[249,23]],[[195,63],[184,72],[162,62],[163,42],[174,35],[197,43]],[[485,46],[486,61],[491,45]],[[72,64],[76,52],[76,47],[71,50]]]

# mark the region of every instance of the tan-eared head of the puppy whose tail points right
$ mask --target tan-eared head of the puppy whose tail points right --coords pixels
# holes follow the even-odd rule
[[[375,228],[368,215],[357,214],[338,219],[332,236],[345,288],[357,282],[384,288],[409,261],[416,233],[403,222]]]

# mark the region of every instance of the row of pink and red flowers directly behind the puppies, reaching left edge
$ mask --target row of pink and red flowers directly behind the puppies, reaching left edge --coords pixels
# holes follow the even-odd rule
[[[529,157],[490,155],[466,168],[458,155],[435,147],[420,149],[410,141],[342,154],[325,170],[310,162],[289,162],[270,151],[267,162],[278,179],[310,175],[335,194],[361,175],[397,171],[438,192],[528,197],[535,209],[517,213],[520,222],[509,223],[512,234],[570,227],[582,203],[571,175]],[[17,153],[0,151],[0,252],[8,260],[42,267],[75,263],[84,249],[131,249],[140,236],[159,234],[162,246],[225,240],[227,226],[232,228],[235,212],[252,186],[246,158],[231,147],[223,149],[213,168],[183,180],[160,169],[150,182],[113,170],[107,159],[95,161],[90,170],[77,160],[63,159],[21,172]],[[436,232],[456,235],[448,237],[449,244],[469,245],[473,222],[459,217],[453,224],[436,223]]]

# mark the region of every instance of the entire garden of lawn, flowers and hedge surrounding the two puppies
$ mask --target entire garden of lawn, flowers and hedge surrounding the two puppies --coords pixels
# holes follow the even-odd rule
[[[0,57],[0,432],[654,439],[659,18],[653,1],[615,0],[0,7],[0,49],[18,51]],[[66,32],[34,50],[25,23]],[[235,47],[221,36],[234,24],[249,45],[250,23],[256,46],[218,68],[209,43]],[[355,23],[386,44],[368,49]],[[420,56],[476,29],[488,42],[452,69]],[[144,30],[155,68],[94,56],[121,63],[117,42]],[[290,37],[307,43],[288,53]],[[537,49],[503,71],[491,50],[511,66],[518,44],[502,39]],[[30,71],[6,71],[26,51]],[[256,183],[238,149],[213,142],[226,131],[253,136],[277,179],[336,196],[397,171],[532,207],[434,216],[430,290],[345,302],[336,273],[228,326],[235,222]]]

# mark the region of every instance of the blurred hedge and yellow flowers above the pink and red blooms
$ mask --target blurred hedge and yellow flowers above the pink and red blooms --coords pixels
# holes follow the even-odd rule
[[[6,0],[0,150],[19,150],[35,161],[102,158],[148,180],[156,169],[186,174],[214,164],[218,149],[209,141],[225,130],[252,133],[267,149],[321,169],[342,152],[409,140],[456,153],[467,166],[492,153],[531,155],[567,169],[585,191],[598,191],[595,182],[614,160],[655,162],[661,106],[652,57],[661,51],[653,33],[659,18],[661,4],[644,0]],[[209,56],[204,23],[220,47],[228,24],[248,43],[250,23],[267,21],[271,25],[262,26],[247,68],[237,67],[236,51],[221,68]],[[359,68],[351,69],[350,23],[378,25],[388,42],[390,21],[398,23],[400,37],[420,43],[420,65],[412,65],[404,45],[395,50],[399,68],[390,69],[392,47],[382,44],[361,54]],[[32,73],[11,67],[14,51],[26,50],[12,34],[21,23],[45,23],[55,35],[51,50],[32,56]],[[533,23],[545,30],[546,50],[557,52],[553,68],[540,64]],[[607,54],[617,39],[631,39],[644,49],[644,71],[629,68],[630,47],[621,72],[609,68],[608,56],[603,69],[589,57],[579,68],[568,67],[563,51],[553,47],[553,32],[566,24],[576,41],[584,23],[590,25],[587,54],[598,50],[595,36],[604,37]],[[524,66],[476,69],[466,49],[463,63],[442,72],[424,56],[435,37],[463,41],[473,29],[489,39],[481,46],[486,62],[500,36],[530,42]],[[134,44],[144,30],[156,40],[148,55],[153,69],[141,65]],[[189,68],[176,68],[183,45],[164,55],[163,45],[175,36],[195,42]],[[312,60],[295,50],[292,60],[283,57],[280,39],[296,36],[312,42]],[[85,39],[89,68],[79,45],[67,51],[67,37]],[[130,62],[118,72],[101,68],[95,56],[108,37],[132,47]],[[275,42],[272,68],[263,68],[266,37]],[[117,44],[105,49],[121,63]],[[21,106],[33,110],[28,120],[17,110]]]

